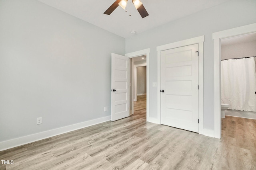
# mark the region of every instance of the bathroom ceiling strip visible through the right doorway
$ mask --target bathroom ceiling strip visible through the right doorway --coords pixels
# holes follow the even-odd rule
[[[246,35],[239,35],[236,37],[230,37],[226,39],[221,40],[221,46],[226,45],[234,45],[234,44],[240,44],[240,43],[248,43],[256,41],[256,33],[250,33]]]

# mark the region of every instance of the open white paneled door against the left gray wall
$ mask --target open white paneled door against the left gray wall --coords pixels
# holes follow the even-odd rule
[[[115,121],[129,116],[129,58],[111,56],[111,121]]]

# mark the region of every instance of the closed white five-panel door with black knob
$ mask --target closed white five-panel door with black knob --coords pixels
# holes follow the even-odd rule
[[[161,51],[161,124],[198,132],[198,44]]]

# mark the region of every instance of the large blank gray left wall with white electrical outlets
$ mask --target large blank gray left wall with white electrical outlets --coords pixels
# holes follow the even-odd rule
[[[0,0],[0,141],[110,115],[111,53],[125,54],[124,38],[36,0]]]

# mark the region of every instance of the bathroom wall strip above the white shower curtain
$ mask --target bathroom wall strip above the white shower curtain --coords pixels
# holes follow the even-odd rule
[[[256,41],[221,46],[221,59],[256,57]]]

